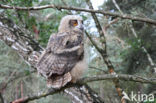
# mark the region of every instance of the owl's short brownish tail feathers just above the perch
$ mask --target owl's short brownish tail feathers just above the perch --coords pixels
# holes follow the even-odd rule
[[[65,86],[68,82],[70,82],[71,79],[72,77],[69,72],[61,76],[52,76],[51,78],[48,78],[47,86],[49,88],[61,88]]]

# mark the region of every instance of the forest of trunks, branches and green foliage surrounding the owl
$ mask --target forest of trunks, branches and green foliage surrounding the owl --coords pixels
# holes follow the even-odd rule
[[[0,103],[136,103],[125,98],[132,91],[156,97],[156,1],[100,1],[0,0]],[[48,89],[35,57],[71,14],[84,19],[88,71],[76,84]]]

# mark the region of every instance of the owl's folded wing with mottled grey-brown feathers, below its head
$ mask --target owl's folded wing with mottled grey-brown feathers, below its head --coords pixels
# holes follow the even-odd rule
[[[49,78],[63,76],[71,71],[83,54],[83,52],[78,52],[83,51],[81,44],[81,36],[73,39],[72,35],[68,33],[52,35],[47,48],[37,63],[39,73]]]

